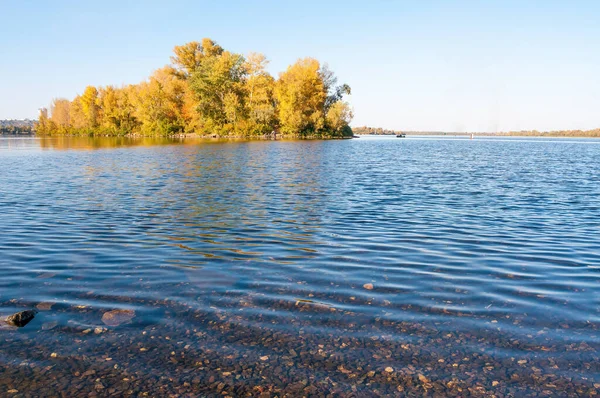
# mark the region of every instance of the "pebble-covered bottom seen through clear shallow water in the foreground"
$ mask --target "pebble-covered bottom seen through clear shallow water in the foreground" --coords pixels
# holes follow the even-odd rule
[[[361,299],[359,295],[357,300]],[[280,310],[295,308],[294,302],[282,300],[281,304]],[[394,305],[400,304],[401,300],[394,300]],[[168,304],[156,304],[162,305]],[[535,346],[521,347],[516,339],[500,339],[496,332],[485,330],[449,333],[450,324],[433,327],[427,322],[395,322],[384,316],[369,323],[360,313],[340,310],[339,318],[338,314],[306,312],[305,319],[304,314],[299,317],[302,320],[290,317],[290,325],[280,328],[263,323],[262,318],[251,318],[254,315],[244,315],[233,306],[215,305],[214,313],[194,313],[189,308],[177,312],[166,307],[166,322],[160,324],[140,322],[123,330],[92,326],[88,334],[96,330],[102,333],[90,338],[81,336],[81,325],[97,324],[102,316],[91,308],[77,318],[71,317],[77,319],[71,324],[63,321],[68,318],[62,316],[62,307],[58,308],[51,315],[61,320],[60,332],[32,330],[32,339],[27,333],[17,333],[16,337],[6,334],[0,354],[23,347],[31,358],[20,360],[9,371],[0,368],[4,395],[9,395],[8,388],[27,394],[25,390],[41,385],[48,395],[64,391],[74,397],[216,396],[215,391],[231,397],[552,396],[557,391],[565,396],[592,396],[596,394],[593,388],[600,388],[599,380],[561,375],[576,374],[575,370],[582,368],[581,362],[561,358],[564,346],[548,346],[557,353],[550,357],[530,357],[531,351],[523,350]],[[183,326],[177,322],[179,316],[186,317]],[[312,333],[309,327],[313,320],[340,333]],[[256,328],[243,327],[244,321],[255,321]],[[57,344],[63,332],[62,342],[71,341]],[[481,341],[521,351],[513,358],[499,358],[465,349]],[[436,350],[427,349],[432,346]],[[589,372],[597,371],[597,365],[588,360],[596,355],[597,344],[572,344],[568,348],[573,358],[579,355]],[[61,351],[60,356],[53,350]],[[47,361],[49,355],[61,360]],[[534,372],[532,379],[530,371]]]

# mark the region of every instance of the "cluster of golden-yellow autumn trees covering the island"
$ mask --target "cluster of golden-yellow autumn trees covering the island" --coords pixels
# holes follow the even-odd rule
[[[124,87],[88,86],[40,112],[42,135],[352,136],[346,84],[327,65],[298,60],[275,79],[262,54],[203,39],[174,48],[171,64]]]

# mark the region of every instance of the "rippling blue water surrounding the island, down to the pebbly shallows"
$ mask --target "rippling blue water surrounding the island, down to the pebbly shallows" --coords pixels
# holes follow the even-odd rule
[[[600,141],[0,138],[0,211],[0,395],[600,392]]]

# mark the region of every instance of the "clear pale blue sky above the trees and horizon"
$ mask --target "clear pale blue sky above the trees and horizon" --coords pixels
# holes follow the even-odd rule
[[[86,85],[137,83],[210,37],[299,57],[352,87],[353,125],[497,131],[600,127],[600,1],[0,0],[0,119]]]

